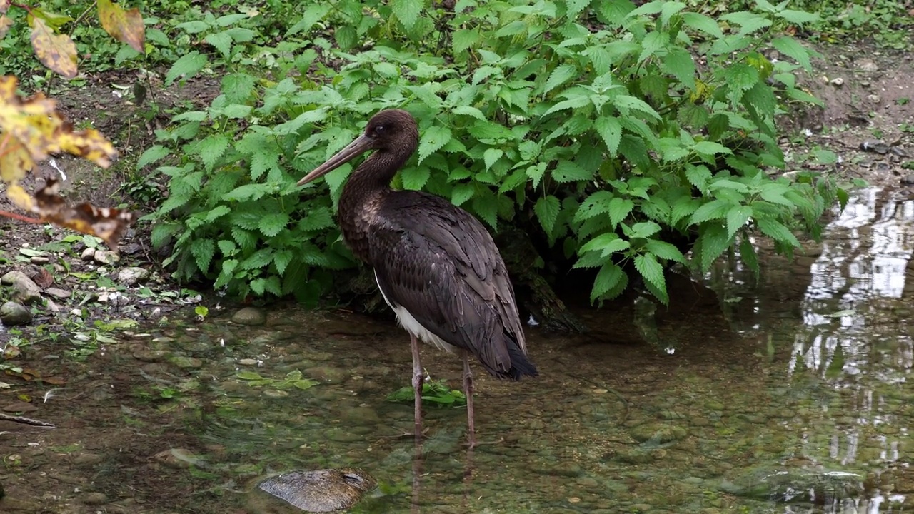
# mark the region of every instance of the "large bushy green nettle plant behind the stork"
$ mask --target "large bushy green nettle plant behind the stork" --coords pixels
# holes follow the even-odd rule
[[[594,302],[638,273],[666,303],[665,267],[707,270],[728,250],[758,273],[750,234],[791,252],[794,230],[817,237],[824,210],[846,201],[828,179],[770,175],[784,166],[776,117],[816,102],[794,76],[810,70],[809,51],[777,35],[815,16],[786,2],[717,20],[680,2],[433,4],[315,2],[282,48],[253,57],[233,53],[248,37],[233,18],[194,27],[224,30],[206,40],[236,66],[206,110],[175,116],[140,161],[172,155],[159,168],[170,196],[148,218],[154,244],[174,244],[178,277],[310,301],[331,289],[331,271],[355,265],[333,216],[352,168],[327,175],[329,196],[294,183],[388,107],[420,120],[399,187],[451,198],[493,230],[541,230],[596,271]],[[168,77],[211,57],[179,59]],[[263,70],[270,79],[253,74]]]

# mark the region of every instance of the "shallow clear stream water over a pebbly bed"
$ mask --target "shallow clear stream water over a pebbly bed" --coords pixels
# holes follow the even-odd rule
[[[476,369],[473,452],[461,409],[425,410],[420,458],[402,436],[412,406],[385,397],[409,384],[409,337],[392,322],[290,307],[267,327],[150,328],[55,364],[67,389],[28,415],[58,428],[0,434],[0,510],[292,512],[260,480],[355,466],[380,486],[353,512],[908,512],[912,223],[914,202],[865,191],[760,284],[711,273],[723,309],[685,290],[654,313],[582,312],[586,335],[530,329],[539,377]],[[423,364],[460,387],[458,357],[423,348]],[[320,383],[239,378],[295,370]],[[43,391],[17,387],[4,402]]]

